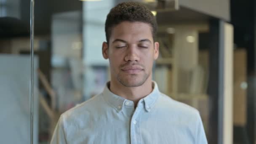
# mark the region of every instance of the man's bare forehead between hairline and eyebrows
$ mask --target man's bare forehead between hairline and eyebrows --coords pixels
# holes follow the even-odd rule
[[[116,38],[124,40],[149,39],[152,40],[152,28],[144,22],[123,21],[113,27],[109,41]]]

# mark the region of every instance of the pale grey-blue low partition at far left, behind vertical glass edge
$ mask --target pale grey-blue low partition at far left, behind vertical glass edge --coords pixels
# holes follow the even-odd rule
[[[38,143],[38,59],[34,74],[34,144]],[[0,55],[0,144],[30,144],[30,57]]]

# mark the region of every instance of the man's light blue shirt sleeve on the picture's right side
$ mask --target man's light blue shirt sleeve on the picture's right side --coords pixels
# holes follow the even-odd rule
[[[197,126],[197,139],[196,139],[196,144],[208,144],[206,136],[205,136],[205,130],[203,128],[203,122],[202,119],[200,117],[199,112],[197,112],[198,114],[198,126]]]

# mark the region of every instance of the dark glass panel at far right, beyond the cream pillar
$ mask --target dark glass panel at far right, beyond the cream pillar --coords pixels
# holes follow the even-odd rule
[[[255,2],[231,0],[234,25],[234,144],[256,143]],[[241,9],[242,8],[242,9]],[[239,12],[239,11],[241,12]]]

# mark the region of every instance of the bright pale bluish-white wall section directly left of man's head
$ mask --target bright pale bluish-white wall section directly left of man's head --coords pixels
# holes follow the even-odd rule
[[[86,65],[107,65],[102,57],[102,42],[106,41],[105,20],[115,0],[83,2],[83,62]]]

